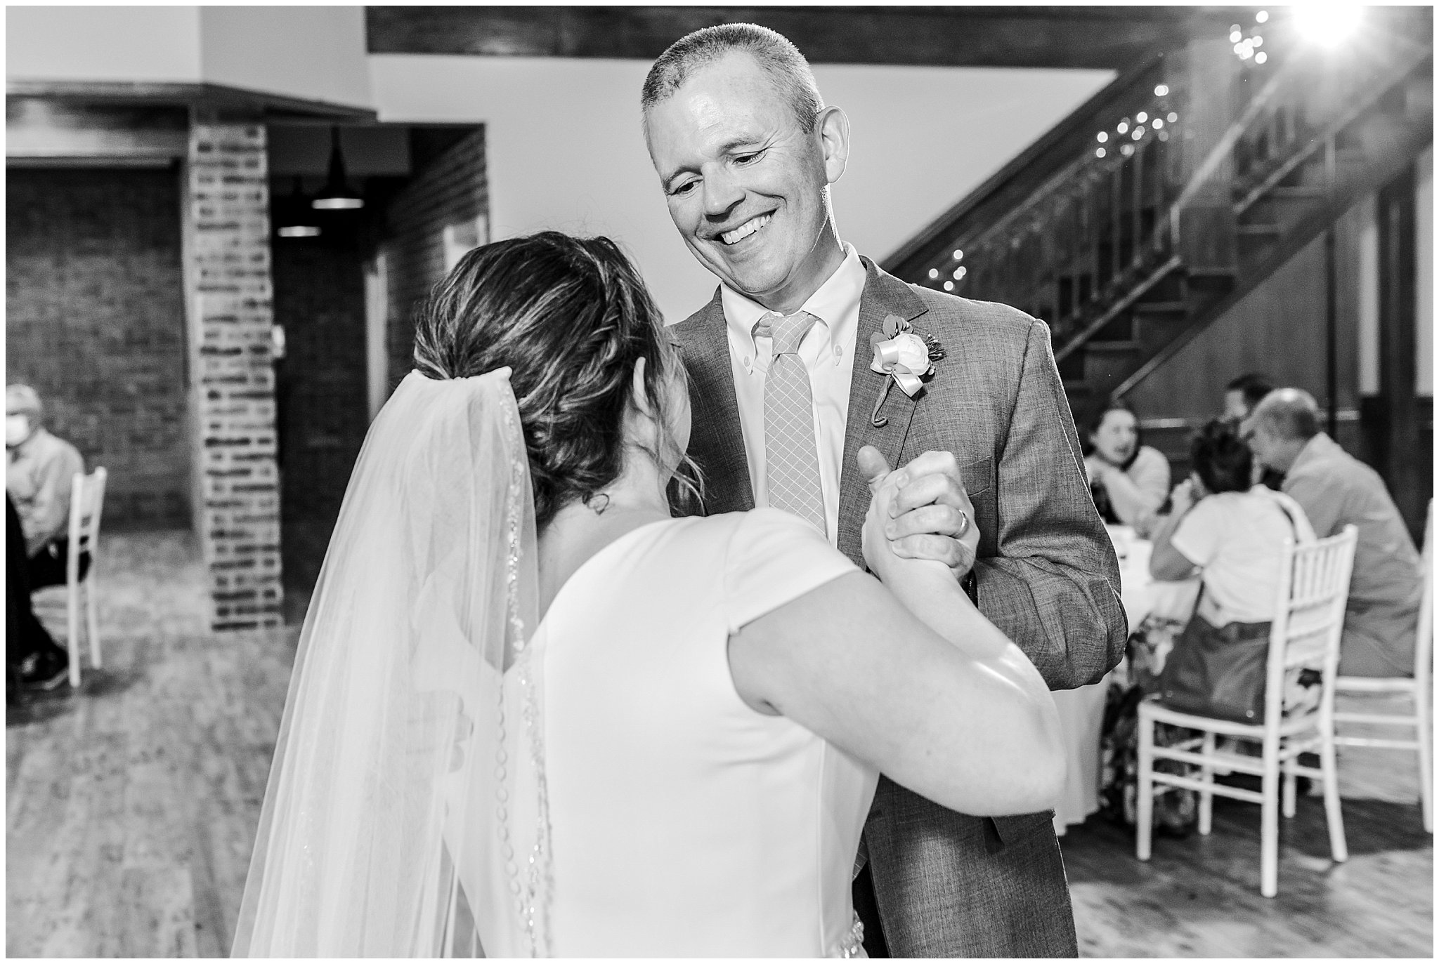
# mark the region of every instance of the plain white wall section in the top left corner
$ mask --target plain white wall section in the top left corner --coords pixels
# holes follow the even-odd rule
[[[6,7],[6,76],[200,81],[199,7]]]

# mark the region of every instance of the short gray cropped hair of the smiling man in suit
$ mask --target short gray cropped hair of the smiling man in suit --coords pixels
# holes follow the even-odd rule
[[[770,75],[774,86],[790,102],[800,129],[814,129],[814,121],[825,109],[825,98],[819,95],[809,60],[784,35],[755,23],[721,23],[688,33],[669,45],[645,76],[639,95],[640,111],[648,118],[649,109],[678,91],[695,71],[732,50],[748,53]]]

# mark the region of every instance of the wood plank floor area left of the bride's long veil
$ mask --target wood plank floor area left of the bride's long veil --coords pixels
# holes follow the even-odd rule
[[[224,957],[296,630],[209,635],[184,534],[96,576],[104,669],[7,708],[6,952]]]

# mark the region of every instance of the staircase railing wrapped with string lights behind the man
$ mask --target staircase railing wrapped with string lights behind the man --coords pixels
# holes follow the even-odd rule
[[[1203,76],[1186,62],[1194,49],[1157,58],[1066,119],[1094,131],[1088,147],[1069,140],[1072,160],[1027,158],[1049,171],[1027,194],[1016,187],[1023,170],[986,184],[954,209],[948,245],[930,229],[922,253],[915,245],[894,268],[1046,321],[1061,361],[1179,268],[1232,276],[1235,219],[1325,142],[1333,154],[1337,131],[1432,53],[1422,42],[1400,45],[1399,56],[1393,46],[1384,56],[1360,49],[1337,66],[1275,36],[1268,55],[1266,69],[1226,62],[1217,72],[1238,117],[1209,144],[1189,124],[1187,86]]]

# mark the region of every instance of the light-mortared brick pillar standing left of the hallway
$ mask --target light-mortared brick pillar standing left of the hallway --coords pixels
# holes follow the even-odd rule
[[[216,630],[279,626],[265,125],[197,115],[186,173],[196,532]]]

